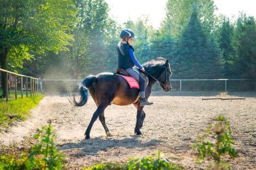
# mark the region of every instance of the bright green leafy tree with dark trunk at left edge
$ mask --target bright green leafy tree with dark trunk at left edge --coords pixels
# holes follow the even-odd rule
[[[67,50],[75,21],[73,0],[0,0],[0,66],[22,67],[33,54]],[[7,75],[2,72],[3,97]]]

